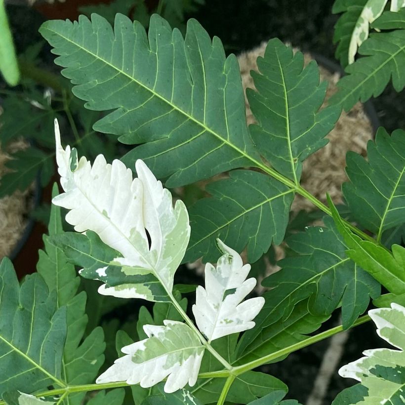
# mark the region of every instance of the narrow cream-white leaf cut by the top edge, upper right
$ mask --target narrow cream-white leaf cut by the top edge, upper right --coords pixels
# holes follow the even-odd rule
[[[349,64],[354,62],[358,47],[368,38],[368,27],[384,11],[388,0],[368,0],[356,22],[349,44]]]

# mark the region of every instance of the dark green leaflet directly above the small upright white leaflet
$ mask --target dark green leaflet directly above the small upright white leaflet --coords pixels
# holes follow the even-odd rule
[[[191,236],[184,262],[202,257],[215,261],[220,255],[216,239],[258,260],[272,240],[283,241],[293,191],[269,176],[250,170],[234,170],[229,178],[210,183],[212,197],[199,200],[189,209]]]

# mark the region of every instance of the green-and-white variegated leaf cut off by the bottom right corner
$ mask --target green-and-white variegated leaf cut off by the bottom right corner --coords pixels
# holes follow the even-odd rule
[[[391,308],[368,311],[377,325],[378,335],[400,350],[373,349],[365,357],[339,369],[342,377],[361,381],[367,396],[356,404],[403,404],[405,402],[405,308],[392,303]]]

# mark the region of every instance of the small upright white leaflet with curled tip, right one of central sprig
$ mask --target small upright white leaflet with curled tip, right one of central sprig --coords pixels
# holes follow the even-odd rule
[[[252,319],[264,305],[263,297],[242,300],[256,285],[256,279],[246,280],[250,265],[226,244],[217,240],[224,253],[216,268],[205,265],[205,288],[197,287],[193,314],[196,323],[208,341],[231,333],[242,332],[254,326]]]

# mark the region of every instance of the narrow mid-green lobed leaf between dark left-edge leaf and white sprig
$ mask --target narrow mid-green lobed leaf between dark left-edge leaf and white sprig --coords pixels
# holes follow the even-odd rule
[[[58,195],[55,184],[52,197]],[[68,263],[68,255],[55,246],[53,238],[63,237],[60,207],[52,204],[48,234],[43,236],[45,249],[39,251],[37,271],[48,285],[49,291],[57,297],[57,308],[66,306],[67,336],[63,351],[61,380],[66,385],[90,384],[94,382],[104,363],[104,333],[98,326],[83,340],[88,317],[85,314],[86,293],[78,293],[80,278],[75,266]],[[64,397],[68,405],[81,404],[85,393],[69,393]]]

